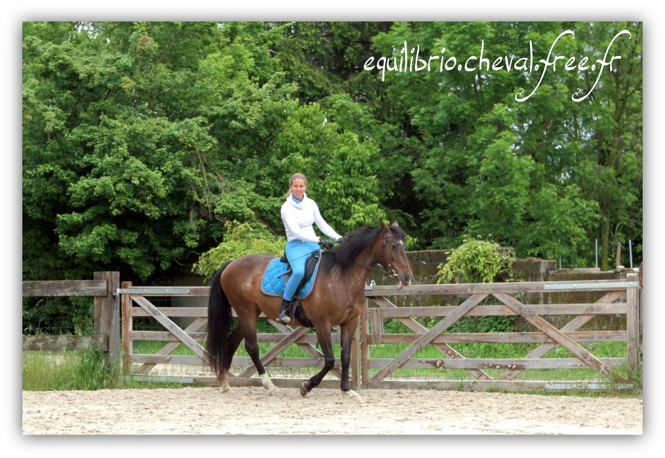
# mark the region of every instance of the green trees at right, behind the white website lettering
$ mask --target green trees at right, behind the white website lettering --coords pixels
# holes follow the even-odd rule
[[[465,57],[478,56],[482,43],[484,55],[494,58],[528,55],[532,42],[544,57],[568,28],[576,37],[561,39],[556,52],[591,52],[591,58],[602,57],[619,30],[634,31],[635,41],[624,40],[625,48],[613,49],[624,56],[621,71],[601,78],[587,101],[574,102],[571,95],[580,86],[589,90],[591,75],[585,73],[587,80],[580,81],[579,73],[561,71],[561,66],[523,103],[515,101],[515,94],[535,87],[540,75],[486,68],[387,75],[383,84],[390,109],[376,115],[400,125],[408,139],[400,145],[413,164],[409,175],[417,196],[411,205],[420,221],[417,237],[445,248],[458,244],[465,232],[492,233],[519,255],[563,255],[568,265],[587,265],[594,232],[603,219],[615,220],[610,226],[617,233],[621,228],[637,233],[641,75],[635,72],[641,71],[640,24],[398,23],[375,35],[373,44],[385,57],[399,57],[405,42],[409,48],[417,44],[421,55],[437,55],[446,48],[446,56]],[[603,108],[606,105],[610,108]],[[631,123],[621,124],[630,134],[618,136],[622,127],[616,119]],[[599,138],[614,140],[601,146]],[[608,153],[601,154],[603,148]]]

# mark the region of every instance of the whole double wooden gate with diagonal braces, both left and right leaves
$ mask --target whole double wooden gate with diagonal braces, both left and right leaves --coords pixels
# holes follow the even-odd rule
[[[118,293],[123,297],[123,372],[134,376],[146,376],[157,365],[199,365],[203,363],[201,342],[206,338],[204,327],[207,320],[207,308],[193,307],[157,307],[146,297],[152,296],[206,296],[209,288],[159,288],[132,287],[123,283]],[[598,299],[590,303],[529,304],[521,295],[538,293],[542,297],[547,293],[572,293],[579,291],[597,292]],[[639,362],[639,284],[637,276],[629,274],[626,280],[603,280],[583,282],[523,282],[505,284],[447,284],[414,285],[406,288],[397,286],[373,286],[366,289],[368,306],[362,316],[353,347],[351,374],[352,386],[359,387],[464,387],[470,390],[499,388],[503,390],[547,390],[547,389],[582,389],[607,390],[610,382],[614,388],[628,386],[617,384],[617,367],[628,366],[637,370]],[[542,294],[541,294],[542,293]],[[447,295],[462,297],[460,305],[451,306],[396,306],[389,298],[412,295]],[[497,304],[486,304],[488,297],[493,297]],[[450,301],[449,301],[450,302]],[[519,316],[531,326],[530,330],[520,332],[450,332],[450,327],[464,317],[471,316]],[[583,327],[601,315],[623,315],[626,327],[623,329],[589,330]],[[565,324],[555,325],[553,320],[544,317],[560,317]],[[152,317],[163,329],[134,330],[135,318]],[[182,329],[172,318],[190,317],[193,322]],[[440,318],[431,328],[425,327],[416,318]],[[267,318],[265,318],[267,320]],[[399,320],[411,333],[386,333],[384,322]],[[422,320],[421,320],[422,321]],[[277,332],[259,334],[259,342],[271,342],[274,346],[262,354],[264,365],[270,367],[321,367],[323,355],[314,347],[316,336],[307,333],[307,329],[292,329],[269,320]],[[165,345],[155,354],[134,354],[133,342],[136,340],[161,340]],[[627,356],[597,357],[587,349],[585,342],[626,342]],[[333,336],[333,342],[339,342],[339,336]],[[456,350],[455,344],[534,344],[522,358],[467,358]],[[173,354],[180,345],[185,345],[193,355]],[[310,358],[285,358],[281,352],[290,345],[297,345],[305,350]],[[400,345],[401,351],[393,358],[373,358],[371,348],[375,345]],[[425,347],[438,351],[435,358],[418,357]],[[533,347],[533,345],[532,345]],[[555,347],[567,350],[570,357],[546,358]],[[254,374],[254,367],[249,358],[236,356],[233,365],[240,366],[240,372],[234,374],[231,385],[260,385]],[[402,369],[416,371],[434,370],[438,375],[429,380],[402,379],[398,373]],[[447,370],[467,374],[463,380],[446,379]],[[525,371],[543,369],[589,369],[594,376],[585,376],[570,383],[558,380],[522,380]],[[339,376],[339,358],[336,358],[332,375]],[[155,378],[159,378],[156,376]],[[167,376],[168,380],[188,381],[189,383],[214,384],[212,376]],[[299,386],[300,379],[279,379],[276,384]],[[337,387],[338,381],[324,380],[323,386]]]

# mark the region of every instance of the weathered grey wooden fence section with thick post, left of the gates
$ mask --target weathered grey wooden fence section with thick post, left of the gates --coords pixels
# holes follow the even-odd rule
[[[24,297],[94,297],[94,336],[23,336],[24,351],[93,349],[103,351],[107,368],[116,372],[120,349],[120,273],[95,272],[93,280],[23,282]]]

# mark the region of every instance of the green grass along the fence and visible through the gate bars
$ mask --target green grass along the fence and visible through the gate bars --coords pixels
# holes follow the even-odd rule
[[[134,354],[155,354],[166,342],[152,340],[135,340],[133,342]],[[205,342],[202,342],[205,345]],[[588,349],[598,358],[626,357],[626,342],[581,342],[580,345]],[[274,346],[273,343],[260,343],[260,354],[263,355]],[[538,347],[535,343],[458,343],[451,344],[465,358],[524,358],[529,351]],[[314,345],[317,347],[317,345]],[[409,347],[408,344],[376,344],[370,346],[371,358],[392,359]],[[335,358],[339,360],[340,345],[333,344]],[[184,345],[179,345],[173,355],[193,356],[194,352]],[[244,345],[240,345],[236,356],[249,356]],[[290,345],[280,355],[281,358],[310,358],[310,355],[297,345]],[[554,347],[545,357],[547,358],[572,358],[573,355],[567,349],[560,346]],[[432,345],[427,345],[413,359],[445,359],[441,351]],[[173,365],[177,372],[178,366]],[[279,376],[276,367],[267,367],[268,373]],[[303,371],[302,373],[299,371]],[[371,373],[379,369],[371,369]],[[493,378],[504,372],[504,369],[483,369]],[[288,376],[307,378],[309,372],[317,369],[285,368],[284,373]],[[308,374],[305,374],[308,372]],[[150,375],[150,374],[148,374]],[[389,379],[400,380],[429,380],[429,381],[451,381],[463,383],[475,378],[465,369],[396,369]],[[532,392],[535,394],[548,395],[576,395],[576,396],[641,396],[641,369],[630,371],[626,367],[612,367],[612,380],[606,381],[593,369],[527,369],[519,374],[515,381],[557,381],[578,383],[583,381],[598,381],[608,383],[610,390],[607,392],[588,392],[583,390],[553,390]],[[634,389],[622,388],[624,383],[635,386]],[[114,379],[105,367],[103,354],[98,351],[25,351],[23,353],[23,389],[24,390],[100,390],[109,388],[152,388],[152,387],[183,387],[193,386],[186,383],[166,383],[161,381],[139,381],[132,378],[118,377]],[[462,386],[462,385],[461,385]],[[612,388],[615,387],[615,388]]]

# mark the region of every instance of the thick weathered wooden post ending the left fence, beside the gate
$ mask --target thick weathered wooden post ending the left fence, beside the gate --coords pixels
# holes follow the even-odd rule
[[[108,349],[104,352],[106,367],[115,376],[118,369],[120,345],[120,304],[114,294],[120,284],[119,272],[95,272],[95,280],[106,280],[106,296],[95,296],[95,333],[108,336]]]

